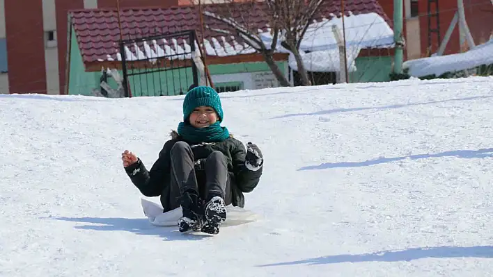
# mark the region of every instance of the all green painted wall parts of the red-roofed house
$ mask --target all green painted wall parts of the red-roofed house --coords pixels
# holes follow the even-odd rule
[[[69,74],[69,91],[68,94],[93,95],[93,90],[99,90],[101,72],[86,72],[82,62],[81,52],[77,44],[75,31],[72,27],[70,39],[70,74]],[[391,81],[389,74],[392,72],[391,56],[379,57],[360,57],[356,59],[356,72],[350,72],[351,83],[366,82],[387,82]],[[276,62],[285,72],[288,62]],[[211,75],[219,74],[237,74],[249,72],[269,72],[269,66],[266,62],[241,62],[228,65],[209,65]],[[171,69],[162,72],[152,72],[147,74],[136,74],[146,72],[145,69],[129,70],[128,82],[132,96],[160,96],[160,95],[178,95],[185,93],[189,85],[193,83],[193,74],[191,67],[182,69]],[[120,76],[123,72],[118,70]],[[114,89],[117,88],[113,78],[108,78],[108,83]],[[230,80],[228,83],[219,83],[220,85],[242,85],[242,80]]]

